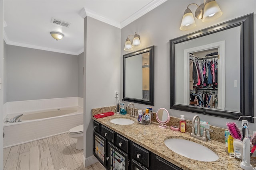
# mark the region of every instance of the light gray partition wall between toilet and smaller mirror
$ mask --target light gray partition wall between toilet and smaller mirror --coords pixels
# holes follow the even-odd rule
[[[84,19],[84,155],[93,155],[92,108],[116,105],[120,92],[121,30],[90,17]],[[121,96],[120,96],[121,98]]]

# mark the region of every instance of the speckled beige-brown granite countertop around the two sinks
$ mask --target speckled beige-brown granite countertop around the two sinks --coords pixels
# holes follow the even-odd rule
[[[127,118],[132,119],[135,123],[131,125],[116,125],[111,123],[110,120],[114,118]],[[129,115],[114,114],[112,116],[103,117],[96,119],[92,117],[95,121],[98,121],[102,125],[116,131],[120,135],[130,139],[131,141],[137,143],[138,145],[150,150],[151,152],[157,154],[158,156],[168,160],[172,164],[184,169],[184,170],[242,170],[240,168],[240,161],[237,158],[229,158],[229,154],[226,151],[224,143],[218,141],[210,140],[208,142],[201,141],[190,137],[190,133],[181,133],[179,131],[172,131],[170,128],[160,128],[158,124],[141,125],[137,123],[137,120]],[[170,150],[164,144],[166,139],[170,138],[180,138],[186,139],[199,143],[212,151],[214,151],[219,159],[214,162],[202,162],[198,160],[193,160],[186,158]],[[252,162],[254,161],[254,162]],[[255,159],[251,159],[251,164],[253,167],[256,166]]]

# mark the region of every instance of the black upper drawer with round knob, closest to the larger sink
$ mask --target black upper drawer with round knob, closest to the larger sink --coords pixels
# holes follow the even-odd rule
[[[142,163],[142,165],[149,167],[149,151],[132,143],[132,158]]]

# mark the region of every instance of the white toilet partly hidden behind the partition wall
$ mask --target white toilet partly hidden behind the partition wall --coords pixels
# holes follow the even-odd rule
[[[77,139],[76,149],[84,149],[84,125],[73,127],[68,131],[69,137]]]

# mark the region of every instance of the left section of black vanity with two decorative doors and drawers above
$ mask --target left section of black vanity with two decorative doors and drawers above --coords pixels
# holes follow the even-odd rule
[[[94,156],[107,170],[130,170],[129,140],[94,121]]]

